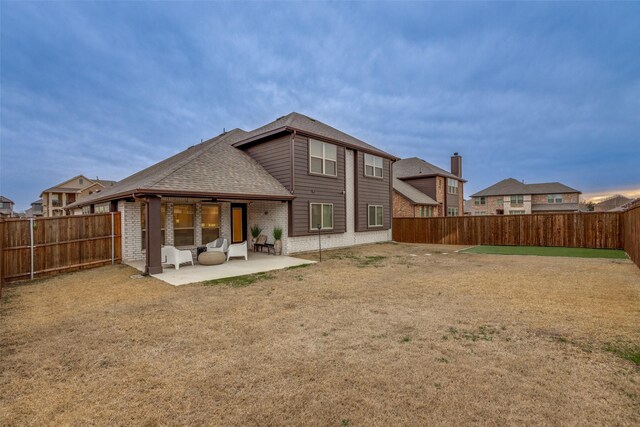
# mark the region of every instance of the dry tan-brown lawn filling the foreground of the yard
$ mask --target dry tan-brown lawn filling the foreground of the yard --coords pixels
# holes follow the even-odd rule
[[[640,344],[640,269],[452,249],[334,251],[248,286],[114,266],[6,288],[0,424],[640,424],[640,368],[606,350]]]

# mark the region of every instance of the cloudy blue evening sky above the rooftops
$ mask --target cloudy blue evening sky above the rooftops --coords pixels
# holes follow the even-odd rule
[[[640,188],[640,3],[0,6],[0,194],[119,180],[291,111],[496,181]],[[212,165],[215,167],[215,165]]]

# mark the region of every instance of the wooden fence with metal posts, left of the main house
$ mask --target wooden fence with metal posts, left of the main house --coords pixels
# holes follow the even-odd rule
[[[119,262],[120,224],[120,212],[0,220],[0,286]]]

